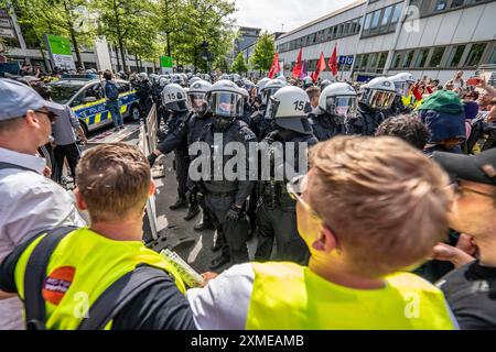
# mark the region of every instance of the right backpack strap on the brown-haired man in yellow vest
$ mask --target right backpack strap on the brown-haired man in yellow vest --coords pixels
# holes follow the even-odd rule
[[[78,330],[101,330],[114,317],[150,286],[170,278],[163,270],[148,265],[138,266],[110,285],[91,305],[88,318],[83,319]]]

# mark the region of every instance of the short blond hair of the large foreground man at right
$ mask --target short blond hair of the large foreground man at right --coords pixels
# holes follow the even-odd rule
[[[311,150],[311,206],[335,232],[356,274],[419,264],[448,230],[448,176],[390,136],[336,136]]]

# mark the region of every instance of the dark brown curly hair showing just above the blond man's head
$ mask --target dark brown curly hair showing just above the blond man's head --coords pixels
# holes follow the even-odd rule
[[[420,151],[423,151],[430,138],[428,128],[418,118],[406,114],[386,119],[376,135],[397,136]]]

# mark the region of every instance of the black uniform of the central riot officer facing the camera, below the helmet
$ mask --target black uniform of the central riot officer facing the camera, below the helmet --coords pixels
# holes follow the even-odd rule
[[[215,145],[214,134],[222,133],[223,145]],[[208,208],[211,216],[216,228],[222,230],[226,243],[223,246],[223,254],[230,256],[233,264],[245,263],[248,261],[248,250],[246,241],[248,239],[248,222],[245,212],[241,211],[238,219],[229,221],[227,219],[227,213],[233,207],[245,207],[245,202],[250,195],[255,183],[249,180],[249,143],[257,142],[257,138],[251,132],[249,127],[239,120],[233,121],[226,129],[218,130],[215,123],[211,123],[205,127],[200,141],[205,142],[211,147],[211,173],[208,179],[202,179],[200,182],[202,191],[205,194],[205,205]],[[235,179],[227,180],[224,173],[222,180],[216,180],[214,178],[214,154],[223,153],[224,147],[230,142],[238,142],[245,146],[247,151],[246,169],[242,172],[245,174],[245,180]],[[223,170],[228,163],[229,157],[223,157]],[[239,170],[238,170],[239,172]]]

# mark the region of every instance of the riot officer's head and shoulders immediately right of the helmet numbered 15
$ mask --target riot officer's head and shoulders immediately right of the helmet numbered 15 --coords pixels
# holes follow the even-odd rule
[[[315,113],[310,114],[319,141],[346,134],[345,121],[356,119],[356,91],[345,82],[331,84],[322,91]]]

